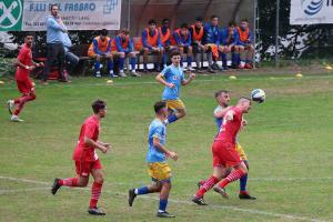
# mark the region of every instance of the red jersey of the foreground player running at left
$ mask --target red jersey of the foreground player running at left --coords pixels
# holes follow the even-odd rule
[[[95,115],[87,118],[81,127],[79,141],[73,153],[74,161],[92,162],[99,159],[94,148],[84,143],[84,137],[98,141],[100,132],[100,120]]]

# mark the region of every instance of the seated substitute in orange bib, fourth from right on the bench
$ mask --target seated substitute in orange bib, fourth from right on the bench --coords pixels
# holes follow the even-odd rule
[[[192,37],[192,41],[191,41],[191,46],[193,49],[193,54],[194,54],[194,60],[196,63],[196,72],[202,72],[201,71],[201,59],[203,56],[203,51],[204,51],[204,46],[202,44],[202,38],[203,38],[203,26],[202,26],[202,17],[198,17],[195,19],[195,23],[192,24],[190,27],[190,32],[191,32],[191,37]]]

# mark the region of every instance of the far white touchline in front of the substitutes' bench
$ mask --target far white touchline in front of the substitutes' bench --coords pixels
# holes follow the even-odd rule
[[[214,75],[213,75],[214,77]],[[226,77],[226,75],[224,75]],[[270,79],[273,78],[273,79]],[[239,77],[238,81],[255,81],[255,80],[263,80],[263,79],[268,79],[268,80],[272,80],[272,81],[276,81],[276,80],[299,80],[299,78],[294,78],[294,77],[265,77],[265,78],[242,78]],[[320,75],[320,77],[315,77],[315,75],[311,75],[311,77],[303,77],[302,79],[333,79],[333,75]],[[196,79],[194,80],[192,83],[195,82],[223,82],[223,81],[234,81],[234,80],[229,80],[229,79]],[[113,85],[113,87],[122,87],[122,85],[140,85],[140,84],[159,84],[157,81],[145,81],[145,82],[113,82],[111,84],[107,84],[107,83],[88,83],[88,84],[50,84],[50,85],[39,85],[37,84],[36,88],[82,88],[82,87],[101,87],[101,85]],[[12,89],[17,89],[16,87],[0,87],[0,90],[12,90]]]

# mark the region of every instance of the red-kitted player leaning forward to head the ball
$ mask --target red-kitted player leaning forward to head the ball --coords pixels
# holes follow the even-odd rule
[[[251,109],[251,100],[249,98],[240,98],[235,107],[230,108],[223,117],[223,123],[220,132],[214,139],[213,153],[213,174],[204,182],[204,184],[194,194],[192,201],[199,205],[206,205],[203,195],[212,189],[221,178],[224,178],[218,186],[214,188],[222,196],[228,196],[224,188],[232,181],[235,181],[248,174],[248,168],[236,152],[235,141],[236,134],[242,127],[243,114]]]

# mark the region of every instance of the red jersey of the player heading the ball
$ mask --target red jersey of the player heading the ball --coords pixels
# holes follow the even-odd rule
[[[233,112],[233,120],[226,121],[225,115]],[[215,141],[235,144],[235,138],[241,129],[243,113],[235,107],[231,108],[223,117],[223,123]]]

